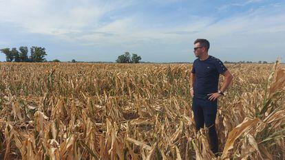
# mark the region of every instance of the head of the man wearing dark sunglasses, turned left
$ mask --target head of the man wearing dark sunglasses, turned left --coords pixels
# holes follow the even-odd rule
[[[203,54],[208,54],[210,43],[207,39],[196,39],[194,42],[194,54],[196,57],[200,57]]]

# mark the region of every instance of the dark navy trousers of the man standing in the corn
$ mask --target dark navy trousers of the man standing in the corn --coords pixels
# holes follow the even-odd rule
[[[217,114],[217,100],[210,101],[207,98],[193,98],[192,110],[196,124],[196,131],[209,129],[209,140],[212,152],[218,152],[218,136],[215,132],[215,115]]]

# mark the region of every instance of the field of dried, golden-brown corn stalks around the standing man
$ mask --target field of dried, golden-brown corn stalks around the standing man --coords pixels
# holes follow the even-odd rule
[[[226,66],[215,157],[191,65],[0,63],[0,159],[285,159],[284,65]]]

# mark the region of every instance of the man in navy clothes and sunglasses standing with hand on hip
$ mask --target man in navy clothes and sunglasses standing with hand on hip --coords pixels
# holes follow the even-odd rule
[[[196,123],[196,130],[209,129],[209,140],[212,152],[218,152],[218,136],[215,131],[215,116],[217,101],[233,80],[231,72],[223,63],[213,56],[209,56],[210,43],[206,39],[194,42],[194,54],[197,57],[191,71],[190,91],[193,97],[192,110]],[[225,77],[224,84],[218,89],[219,76]]]

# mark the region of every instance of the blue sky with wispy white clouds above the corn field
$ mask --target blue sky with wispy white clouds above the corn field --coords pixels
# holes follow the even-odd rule
[[[207,38],[222,61],[285,62],[285,1],[0,0],[0,48],[45,47],[47,60],[192,62]],[[6,60],[0,54],[0,60]]]

